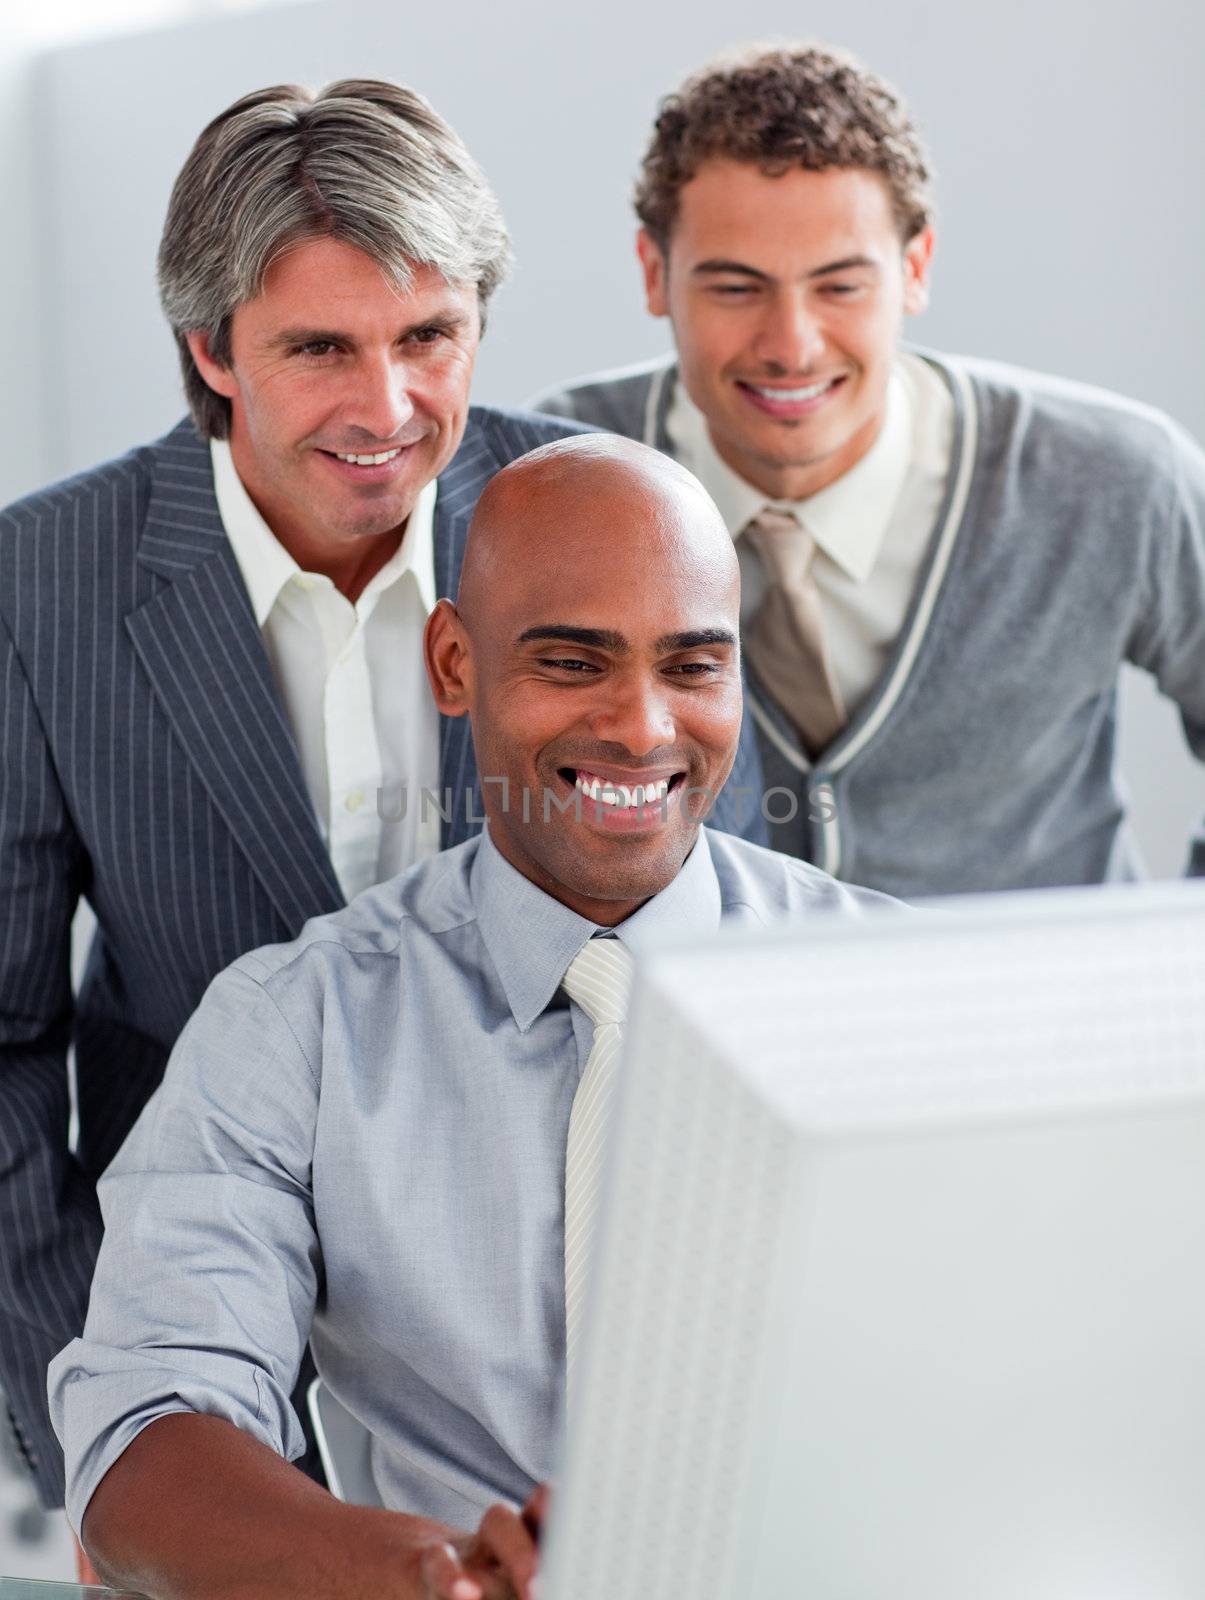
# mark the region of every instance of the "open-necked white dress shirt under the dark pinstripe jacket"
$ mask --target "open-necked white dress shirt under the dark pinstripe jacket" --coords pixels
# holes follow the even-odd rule
[[[435,483],[398,550],[352,605],[302,571],[243,488],[226,440],[211,440],[218,510],[243,574],[314,814],[344,894],[402,872],[440,845],[438,712],[422,664],[435,606]],[[402,814],[405,813],[405,814]]]

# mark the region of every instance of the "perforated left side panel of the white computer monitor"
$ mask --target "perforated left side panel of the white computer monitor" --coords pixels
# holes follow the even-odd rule
[[[792,1136],[703,1034],[658,1026],[658,1005],[645,987],[634,1008],[648,1048],[624,1098],[626,1182],[584,1349],[574,1496],[555,1525],[568,1562],[554,1550],[555,1592],[573,1600],[739,1592],[727,1574],[752,1443],[746,1379],[760,1368]],[[674,1230],[647,1229],[675,1195],[695,1198]],[[618,1414],[642,1419],[639,1456],[602,1448]],[[701,1504],[728,1514],[699,1520]]]

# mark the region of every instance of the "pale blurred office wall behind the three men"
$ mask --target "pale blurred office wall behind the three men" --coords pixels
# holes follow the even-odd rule
[[[35,0],[0,24],[0,504],[165,432],[182,405],[154,258],[192,139],[246,90],[421,88],[483,163],[517,270],[477,395],[514,405],[656,355],[631,178],[658,96],[712,51],[808,34],[899,83],[938,170],[914,336],[1159,405],[1205,437],[1205,11],[1191,0]],[[1040,693],[1040,686],[1037,688]],[[1179,870],[1205,778],[1128,674],[1123,765],[1151,870]],[[62,1570],[0,1464],[0,1571]]]

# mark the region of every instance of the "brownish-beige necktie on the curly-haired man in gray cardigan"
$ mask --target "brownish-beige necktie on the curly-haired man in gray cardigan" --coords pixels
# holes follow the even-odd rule
[[[746,630],[744,650],[815,755],[847,722],[811,576],[816,541],[787,512],[770,507],[754,517],[746,536],[765,562],[768,582]]]

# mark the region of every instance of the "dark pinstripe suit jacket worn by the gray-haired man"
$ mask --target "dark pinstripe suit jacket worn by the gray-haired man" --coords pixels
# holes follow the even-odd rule
[[[474,408],[440,477],[438,594],[488,478],[570,432]],[[96,1179],[210,979],[342,904],[189,422],[0,514],[0,1387],[59,1501],[45,1374],[83,1326]],[[466,718],[440,750],[446,846],[480,826]],[[99,931],[72,1000],[80,896]]]

